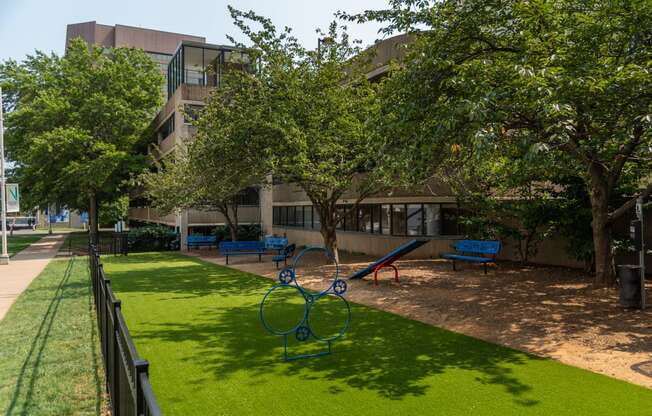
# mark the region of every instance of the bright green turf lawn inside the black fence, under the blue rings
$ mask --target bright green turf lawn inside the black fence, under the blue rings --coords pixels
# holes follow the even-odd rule
[[[168,415],[652,414],[643,387],[360,305],[332,355],[284,362],[259,321],[270,280],[179,254],[104,262]]]

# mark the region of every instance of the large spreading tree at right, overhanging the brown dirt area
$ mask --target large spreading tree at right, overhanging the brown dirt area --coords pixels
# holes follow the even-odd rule
[[[359,16],[415,43],[383,97],[385,153],[432,174],[457,146],[518,138],[582,178],[596,286],[615,281],[612,224],[652,192],[650,1],[393,0]],[[416,27],[426,30],[417,30]],[[395,164],[396,165],[396,164]],[[620,193],[628,195],[617,202]]]

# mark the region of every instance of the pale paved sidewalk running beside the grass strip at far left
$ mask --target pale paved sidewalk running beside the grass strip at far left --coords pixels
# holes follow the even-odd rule
[[[0,265],[0,321],[16,298],[57,254],[65,236],[48,235]]]

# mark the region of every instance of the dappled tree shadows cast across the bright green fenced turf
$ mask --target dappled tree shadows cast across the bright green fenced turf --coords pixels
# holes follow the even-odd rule
[[[343,383],[400,400],[426,394],[431,388],[427,378],[468,370],[478,374],[479,383],[502,386],[519,405],[538,403],[523,397],[532,388],[512,369],[537,358],[360,305],[352,305],[351,328],[334,344],[334,354],[284,362],[282,338],[268,335],[259,319],[259,302],[271,287],[268,279],[187,257],[163,255],[158,259],[165,265],[157,265],[157,256],[150,255],[110,259],[116,265],[151,263],[151,268],[134,271],[124,271],[122,266],[111,269],[108,274],[114,289],[118,294],[170,295],[152,298],[153,302],[171,298],[186,302],[187,298],[193,302],[193,316],[185,321],[175,317],[179,323],[160,323],[153,313],[143,327],[132,328],[132,335],[136,342],[194,341],[199,348],[188,360],[206,368],[207,377],[219,380],[240,371],[261,380],[270,373],[294,375],[332,382],[328,387],[331,394],[340,393],[337,384]],[[146,296],[140,299],[149,301]]]

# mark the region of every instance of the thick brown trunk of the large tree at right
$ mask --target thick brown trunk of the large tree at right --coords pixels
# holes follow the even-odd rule
[[[613,267],[611,220],[609,218],[609,187],[603,175],[591,169],[591,213],[593,221],[593,249],[595,251],[595,287],[613,286],[616,274]]]

